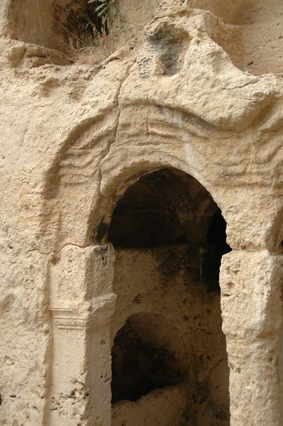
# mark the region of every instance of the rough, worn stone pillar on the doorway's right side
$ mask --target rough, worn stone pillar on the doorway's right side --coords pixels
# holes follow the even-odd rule
[[[232,251],[221,266],[231,426],[281,426],[282,256]]]

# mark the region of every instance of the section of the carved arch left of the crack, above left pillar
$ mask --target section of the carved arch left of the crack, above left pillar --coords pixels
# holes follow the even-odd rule
[[[100,192],[101,161],[115,141],[118,109],[103,111],[69,131],[45,178],[42,234],[45,246],[91,244],[89,218],[104,197]]]

